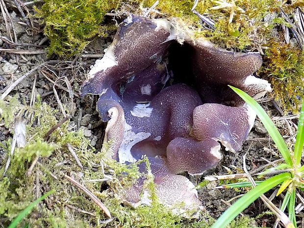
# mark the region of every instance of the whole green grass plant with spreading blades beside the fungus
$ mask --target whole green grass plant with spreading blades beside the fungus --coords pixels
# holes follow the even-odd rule
[[[291,221],[287,222],[286,227],[295,228],[296,226],[296,216],[295,216],[295,201],[296,201],[296,189],[302,186],[302,181],[304,177],[304,166],[301,165],[301,156],[303,152],[304,145],[304,102],[302,104],[301,114],[298,123],[298,133],[296,136],[295,149],[293,153],[290,153],[286,143],[284,142],[282,136],[279,133],[277,127],[273,124],[264,109],[253,100],[244,91],[229,86],[235,93],[237,93],[244,101],[246,101],[251,108],[256,112],[257,116],[260,118],[263,125],[266,127],[269,135],[274,140],[279,152],[285,160],[284,165],[280,165],[281,169],[286,169],[286,173],[276,175],[267,180],[259,182],[259,185],[251,189],[248,193],[237,200],[232,206],[230,206],[222,216],[213,224],[211,228],[224,228],[226,227],[238,214],[240,214],[245,208],[247,208],[251,203],[253,203],[258,197],[270,190],[271,188],[281,184],[279,188],[279,193],[282,193],[288,188],[285,199],[282,203],[281,210],[288,208],[289,219]],[[242,184],[242,183],[241,183]]]

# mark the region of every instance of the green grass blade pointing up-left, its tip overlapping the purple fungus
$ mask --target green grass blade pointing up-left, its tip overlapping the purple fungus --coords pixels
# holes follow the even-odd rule
[[[284,160],[288,165],[292,165],[291,155],[289,152],[289,149],[284,142],[282,136],[279,133],[279,130],[274,125],[274,123],[271,121],[267,113],[264,111],[264,109],[256,102],[252,97],[250,97],[247,93],[244,91],[235,88],[233,86],[228,85],[237,95],[239,95],[244,101],[246,101],[251,108],[256,112],[256,115],[260,118],[261,122],[267,129],[270,137],[274,140],[276,146],[279,149],[279,152],[282,154]]]

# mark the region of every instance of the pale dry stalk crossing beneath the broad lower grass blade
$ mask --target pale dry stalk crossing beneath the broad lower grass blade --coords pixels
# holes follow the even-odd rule
[[[246,155],[247,155],[247,152],[243,156],[243,169],[244,169],[245,174],[247,175],[247,178],[253,185],[253,188],[255,188],[256,184],[253,180],[253,177],[251,177],[251,175],[249,174],[249,172],[246,168]],[[267,197],[264,194],[260,195],[260,198],[266,204],[266,206],[275,213],[275,215],[281,220],[281,222],[284,224],[285,227],[292,225],[292,223],[291,223],[290,219],[287,217],[287,215],[284,212],[282,212],[278,207],[276,207],[276,205],[274,203],[272,203],[269,199],[267,199]]]

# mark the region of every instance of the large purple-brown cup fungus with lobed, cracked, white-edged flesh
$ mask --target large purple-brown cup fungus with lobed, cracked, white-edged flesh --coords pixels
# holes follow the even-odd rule
[[[129,16],[81,93],[100,95],[107,156],[128,163],[147,155],[160,202],[197,209],[194,185],[177,174],[216,166],[221,144],[241,149],[255,113],[228,84],[254,98],[271,92],[266,80],[253,76],[261,64],[258,53],[222,50],[165,19]],[[146,172],[144,164],[140,169]],[[149,203],[143,186],[144,178],[126,189],[125,202]]]

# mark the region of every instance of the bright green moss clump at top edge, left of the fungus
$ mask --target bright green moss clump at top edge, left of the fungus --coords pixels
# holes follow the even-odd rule
[[[115,24],[105,24],[105,14],[116,9],[116,0],[46,0],[36,8],[50,39],[49,54],[71,57],[96,36],[106,36]]]

